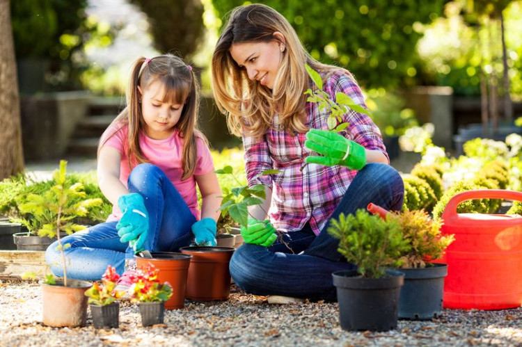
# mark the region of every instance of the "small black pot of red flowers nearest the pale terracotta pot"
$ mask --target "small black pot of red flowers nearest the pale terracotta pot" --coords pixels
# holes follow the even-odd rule
[[[118,328],[120,325],[120,305],[116,299],[121,298],[125,292],[116,291],[119,278],[116,268],[109,265],[102,276],[102,285],[95,282],[93,287],[85,292],[85,296],[89,298],[90,313],[96,329]]]

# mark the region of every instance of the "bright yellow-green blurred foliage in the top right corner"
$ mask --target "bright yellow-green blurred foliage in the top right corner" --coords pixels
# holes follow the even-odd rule
[[[481,2],[484,1],[475,1]],[[509,1],[500,2],[504,2],[505,6]],[[501,76],[503,72],[500,24],[486,18],[482,19],[486,24],[479,27],[477,14],[466,13],[462,1],[450,1],[445,6],[444,15],[427,27],[425,36],[419,41],[420,65],[423,66],[420,74],[427,83],[451,86],[455,95],[480,95],[481,60],[486,74],[495,71]],[[520,98],[522,1],[511,1],[503,11],[503,16],[511,94]],[[483,42],[482,46],[479,45],[478,35]]]

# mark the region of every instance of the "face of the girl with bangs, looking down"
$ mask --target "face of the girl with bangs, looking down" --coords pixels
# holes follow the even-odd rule
[[[171,136],[174,126],[180,120],[184,104],[163,102],[165,87],[161,81],[152,81],[141,90],[141,114],[145,121],[145,134],[155,140],[163,140]]]

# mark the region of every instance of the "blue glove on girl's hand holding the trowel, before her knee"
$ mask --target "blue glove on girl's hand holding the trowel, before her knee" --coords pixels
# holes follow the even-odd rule
[[[149,231],[149,217],[143,197],[138,193],[122,195],[118,198],[118,207],[123,213],[116,225],[120,242],[129,242],[136,252],[143,250]]]

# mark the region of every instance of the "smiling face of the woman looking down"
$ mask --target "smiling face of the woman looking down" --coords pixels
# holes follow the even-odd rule
[[[230,47],[230,55],[239,67],[246,70],[248,79],[272,89],[285,48],[284,43],[278,40],[234,43]]]

